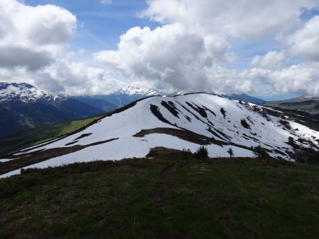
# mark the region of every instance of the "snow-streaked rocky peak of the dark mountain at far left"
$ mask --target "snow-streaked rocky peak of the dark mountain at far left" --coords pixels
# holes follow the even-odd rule
[[[0,83],[0,103],[22,101],[33,103],[39,100],[56,101],[64,98],[41,91],[28,83]]]

